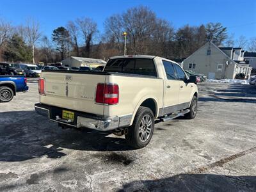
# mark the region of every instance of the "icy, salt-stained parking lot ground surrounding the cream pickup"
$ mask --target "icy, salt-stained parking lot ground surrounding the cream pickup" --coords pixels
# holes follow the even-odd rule
[[[199,85],[198,115],[156,124],[150,145],[62,130],[28,93],[0,104],[0,191],[256,191],[256,87]]]

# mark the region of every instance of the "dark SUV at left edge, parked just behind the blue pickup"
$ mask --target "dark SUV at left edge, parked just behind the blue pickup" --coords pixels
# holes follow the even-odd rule
[[[25,72],[16,63],[0,63],[0,75],[24,76]]]

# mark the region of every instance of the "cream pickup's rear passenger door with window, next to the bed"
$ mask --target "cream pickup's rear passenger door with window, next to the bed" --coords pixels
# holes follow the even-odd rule
[[[177,111],[180,82],[175,77],[175,70],[170,61],[163,60],[163,66],[166,75],[164,81],[164,114],[168,114]]]

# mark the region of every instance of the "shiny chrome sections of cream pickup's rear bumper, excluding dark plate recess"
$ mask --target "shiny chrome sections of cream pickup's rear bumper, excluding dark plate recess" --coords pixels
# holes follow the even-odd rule
[[[97,131],[111,131],[117,129],[118,127],[127,127],[129,126],[132,115],[125,115],[125,116],[113,116],[108,118],[98,117],[98,118],[88,118],[86,116],[79,116],[77,115],[77,122],[76,125],[70,124],[68,120],[64,120],[60,118],[60,116],[51,117],[49,108],[44,108],[42,106],[35,105],[36,113],[47,116],[50,120],[54,122],[58,122],[60,124],[69,125],[72,127],[86,127],[89,129],[95,129]]]

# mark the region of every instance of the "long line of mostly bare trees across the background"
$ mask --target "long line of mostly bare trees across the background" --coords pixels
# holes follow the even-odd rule
[[[219,22],[200,26],[187,24],[175,29],[150,8],[138,6],[108,17],[103,33],[89,17],[69,20],[65,26],[53,29],[51,37],[42,33],[36,20],[28,19],[24,25],[12,26],[0,19],[0,60],[56,63],[67,56],[107,60],[124,53],[124,32],[127,32],[127,54],[182,59],[208,41],[218,46],[236,44],[256,51],[256,38],[248,40],[240,36],[234,40],[234,34],[228,35],[227,28]]]

